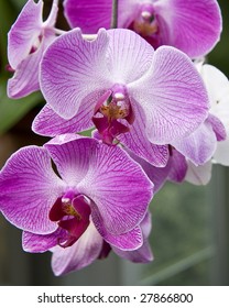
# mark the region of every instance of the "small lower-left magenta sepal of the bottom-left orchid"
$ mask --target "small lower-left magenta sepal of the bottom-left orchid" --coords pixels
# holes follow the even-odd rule
[[[22,233],[22,248],[26,252],[45,252],[59,244],[61,240],[66,240],[67,233],[58,228],[55,232],[46,235],[34,234],[24,231]]]

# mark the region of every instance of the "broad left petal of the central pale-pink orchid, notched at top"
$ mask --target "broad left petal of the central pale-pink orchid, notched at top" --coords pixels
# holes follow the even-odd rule
[[[75,29],[47,48],[41,63],[41,90],[62,118],[72,119],[89,94],[110,87],[105,62],[107,44],[105,30],[99,31],[96,40],[86,41],[80,30]]]

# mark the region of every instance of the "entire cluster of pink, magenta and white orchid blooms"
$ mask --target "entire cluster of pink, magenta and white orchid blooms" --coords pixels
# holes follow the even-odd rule
[[[69,31],[29,0],[8,36],[8,96],[41,90],[32,130],[51,138],[0,173],[0,210],[62,275],[112,250],[153,260],[149,205],[166,180],[207,184],[229,165],[229,80],[205,64],[216,0],[65,0]],[[115,19],[115,29],[111,20]],[[90,130],[91,136],[85,131]]]

